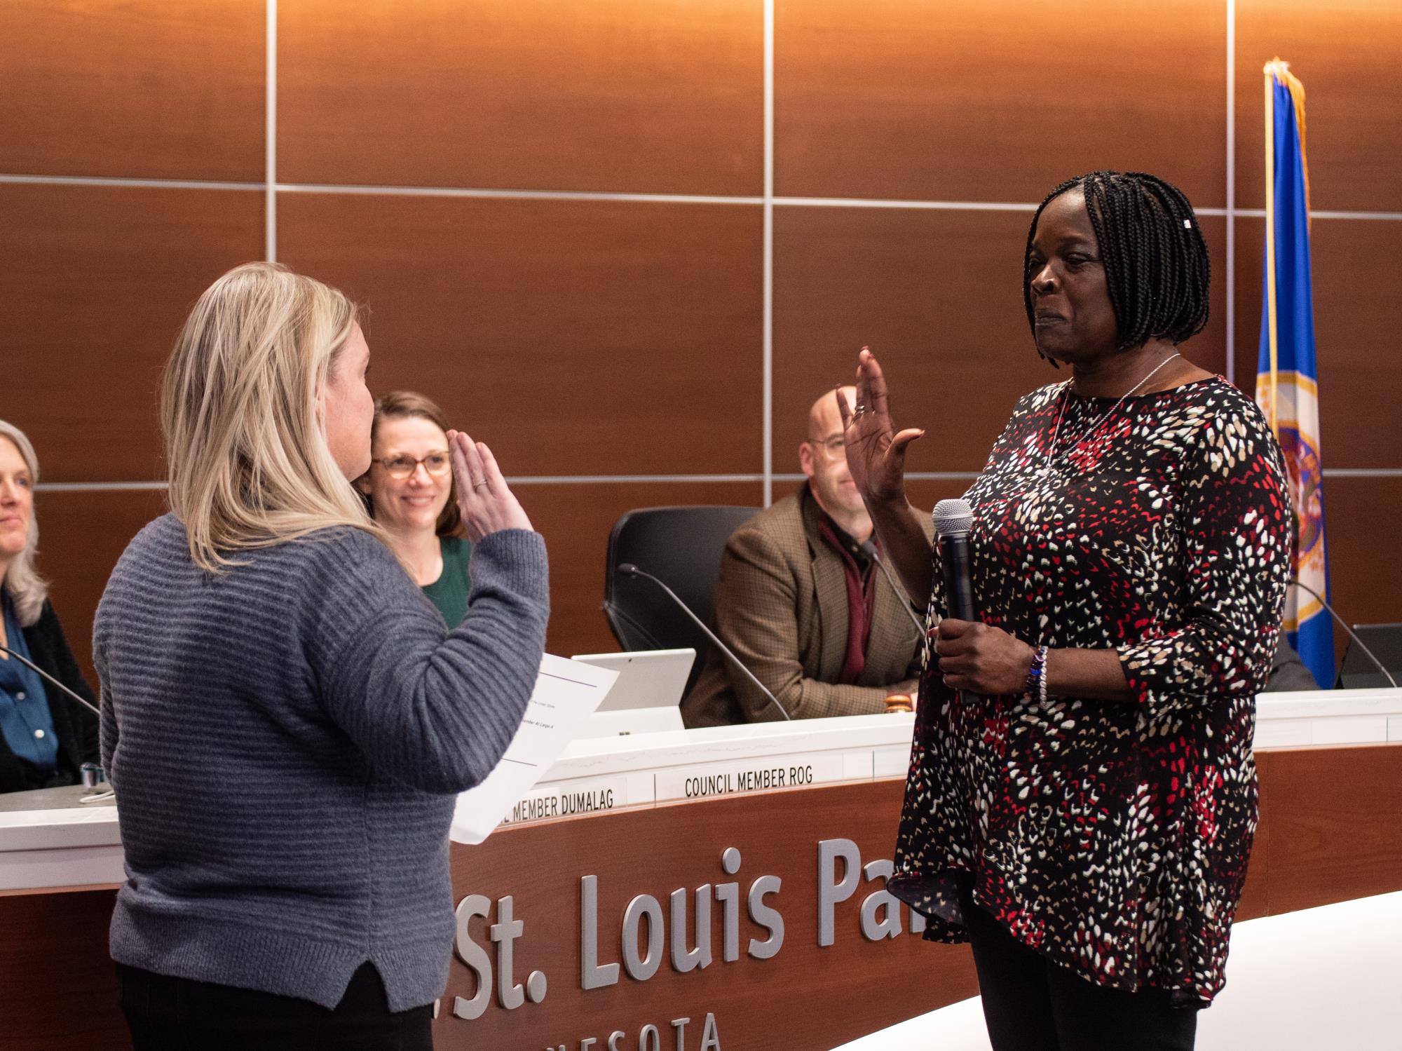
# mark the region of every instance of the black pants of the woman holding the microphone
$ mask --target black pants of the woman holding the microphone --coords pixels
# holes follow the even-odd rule
[[[1162,989],[1094,985],[969,898],[963,914],[994,1051],[1192,1051],[1197,1009],[1171,1006]]]

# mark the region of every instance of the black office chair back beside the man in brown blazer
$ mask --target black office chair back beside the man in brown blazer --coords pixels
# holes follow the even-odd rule
[[[608,534],[604,617],[624,650],[697,652],[687,689],[697,681],[711,640],[651,580],[618,573],[631,562],[665,580],[708,626],[715,622],[715,580],[730,534],[758,507],[644,507],[628,511]]]

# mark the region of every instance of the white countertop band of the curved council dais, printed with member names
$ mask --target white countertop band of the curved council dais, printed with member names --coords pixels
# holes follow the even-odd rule
[[[911,715],[869,715],[579,740],[509,823],[897,778],[906,772],[913,723]],[[1258,748],[1388,741],[1402,741],[1402,689],[1265,694],[1258,702]],[[4,810],[0,797],[0,891],[125,879],[116,809],[74,806],[77,795],[50,789],[43,797],[63,804],[35,810]]]

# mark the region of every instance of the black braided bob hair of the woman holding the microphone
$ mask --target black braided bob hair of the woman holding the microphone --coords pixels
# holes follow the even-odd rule
[[[1032,296],[1032,238],[1042,212],[1056,198],[1080,189],[1101,245],[1105,284],[1119,328],[1119,349],[1150,339],[1182,343],[1207,325],[1211,268],[1197,214],[1183,191],[1141,171],[1092,171],[1047,193],[1032,216],[1022,259],[1022,303],[1036,338]]]

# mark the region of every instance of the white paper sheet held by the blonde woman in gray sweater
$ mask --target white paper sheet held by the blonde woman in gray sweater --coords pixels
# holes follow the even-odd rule
[[[449,837],[460,844],[479,844],[491,835],[580,736],[615,678],[617,671],[547,653],[516,737],[486,779],[457,797]]]

